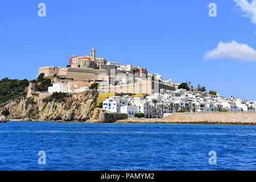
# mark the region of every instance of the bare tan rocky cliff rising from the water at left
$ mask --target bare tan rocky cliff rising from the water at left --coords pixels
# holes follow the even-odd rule
[[[92,117],[97,103],[97,90],[79,94],[40,98],[33,96],[7,103],[0,108],[9,110],[9,119],[36,119],[38,121],[86,121]]]

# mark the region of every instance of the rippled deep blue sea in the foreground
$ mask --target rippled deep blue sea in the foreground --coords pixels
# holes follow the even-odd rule
[[[0,123],[0,170],[255,169],[256,126]]]

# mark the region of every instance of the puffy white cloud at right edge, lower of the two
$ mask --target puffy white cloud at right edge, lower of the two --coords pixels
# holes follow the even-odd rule
[[[237,43],[232,41],[230,43],[218,43],[217,48],[205,53],[204,60],[228,58],[243,61],[255,61],[256,51],[247,44]]]

